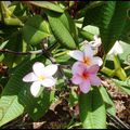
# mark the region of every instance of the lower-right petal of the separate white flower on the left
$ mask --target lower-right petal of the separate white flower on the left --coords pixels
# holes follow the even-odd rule
[[[41,84],[43,87],[52,87],[56,83],[56,80],[53,77],[46,78],[44,80],[41,81]]]

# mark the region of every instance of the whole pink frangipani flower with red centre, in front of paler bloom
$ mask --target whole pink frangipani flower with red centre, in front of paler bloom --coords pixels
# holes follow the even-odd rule
[[[96,76],[99,68],[99,65],[87,67],[82,63],[75,63],[72,67],[73,83],[79,84],[80,91],[88,93],[91,86],[99,86],[101,83],[101,79]]]

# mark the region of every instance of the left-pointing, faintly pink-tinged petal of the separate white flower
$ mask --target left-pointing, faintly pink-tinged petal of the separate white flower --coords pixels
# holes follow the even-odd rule
[[[29,73],[23,78],[23,81],[25,82],[31,82],[37,80],[38,80],[38,77],[34,73]]]

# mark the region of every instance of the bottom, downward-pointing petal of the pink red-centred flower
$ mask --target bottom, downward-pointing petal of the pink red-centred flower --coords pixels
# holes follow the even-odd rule
[[[81,82],[79,88],[82,93],[88,93],[91,89],[90,81],[86,80],[86,81]]]

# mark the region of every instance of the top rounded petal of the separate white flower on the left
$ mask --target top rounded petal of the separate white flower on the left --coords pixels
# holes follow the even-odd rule
[[[41,76],[43,74],[43,70],[44,70],[44,65],[40,62],[36,62],[34,65],[32,65],[32,69],[34,69],[34,73],[37,75],[37,76]]]

